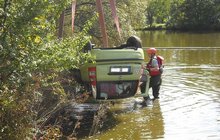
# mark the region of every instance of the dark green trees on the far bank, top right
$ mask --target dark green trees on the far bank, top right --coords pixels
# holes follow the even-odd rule
[[[151,0],[146,9],[148,24],[164,23],[176,29],[219,28],[217,0]]]

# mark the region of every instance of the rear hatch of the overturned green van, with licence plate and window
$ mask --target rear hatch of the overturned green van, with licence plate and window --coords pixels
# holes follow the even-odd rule
[[[110,63],[96,65],[97,99],[119,99],[134,96],[141,65]]]

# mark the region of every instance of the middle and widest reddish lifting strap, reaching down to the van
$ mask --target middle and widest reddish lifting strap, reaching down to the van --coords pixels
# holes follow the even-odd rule
[[[106,27],[105,27],[105,19],[104,19],[104,12],[102,9],[102,0],[96,0],[96,8],[99,14],[99,24],[101,28],[101,34],[102,34],[102,41],[104,47],[108,47],[108,36],[106,32]]]

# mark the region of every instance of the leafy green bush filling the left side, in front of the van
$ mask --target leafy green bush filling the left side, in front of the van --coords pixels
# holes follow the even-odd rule
[[[90,37],[56,37],[56,22],[71,0],[0,0],[0,139],[25,139],[35,127],[42,89],[65,96],[60,73],[90,59],[80,53]]]

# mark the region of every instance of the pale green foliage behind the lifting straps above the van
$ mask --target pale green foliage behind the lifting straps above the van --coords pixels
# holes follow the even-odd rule
[[[145,8],[146,2],[130,1],[130,0],[120,0],[116,1],[117,15],[119,17],[120,28],[122,31],[122,39],[118,37],[116,26],[112,17],[109,0],[103,0],[103,9],[105,15],[105,23],[107,28],[107,34],[110,44],[113,46],[120,45],[124,42],[128,36],[136,34],[135,29],[141,28],[145,25]],[[83,29],[85,21],[90,19],[90,17],[97,15],[95,1],[90,0],[80,0],[77,1],[76,15],[75,15],[75,26],[74,32],[78,33]],[[65,36],[69,36],[71,31],[71,15],[70,9],[66,10],[66,22],[65,22]],[[92,36],[92,42],[97,46],[102,43],[100,26],[98,18],[93,24],[92,28],[88,31],[89,35]]]

